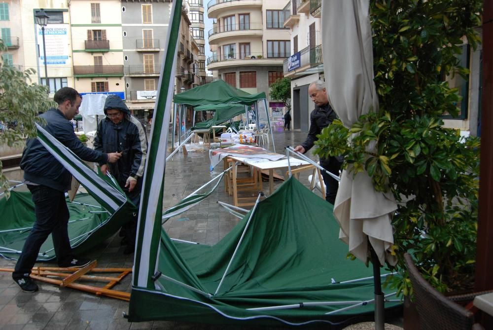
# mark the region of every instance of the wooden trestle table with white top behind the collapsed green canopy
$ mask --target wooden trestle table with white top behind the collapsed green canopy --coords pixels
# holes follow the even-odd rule
[[[262,170],[269,170],[269,194],[272,194],[274,192],[274,170],[276,169],[285,169],[288,167],[288,162],[287,158],[272,161],[268,159],[259,159],[259,158],[244,158],[244,157],[238,157],[238,156],[228,156],[229,159],[232,159],[233,161],[238,161],[243,164],[246,164],[248,166],[251,166],[253,168],[254,173],[258,173],[260,176],[259,180],[260,183],[262,182],[261,178],[261,171]],[[291,168],[297,168],[299,166],[306,166],[310,165],[309,162],[293,158],[291,157],[289,159],[289,162],[291,164]],[[252,203],[239,203],[238,201],[238,185],[237,185],[237,169],[236,166],[233,166],[232,168],[232,182],[233,182],[233,199],[234,199],[234,205],[235,206],[242,206],[242,205],[252,205]]]

